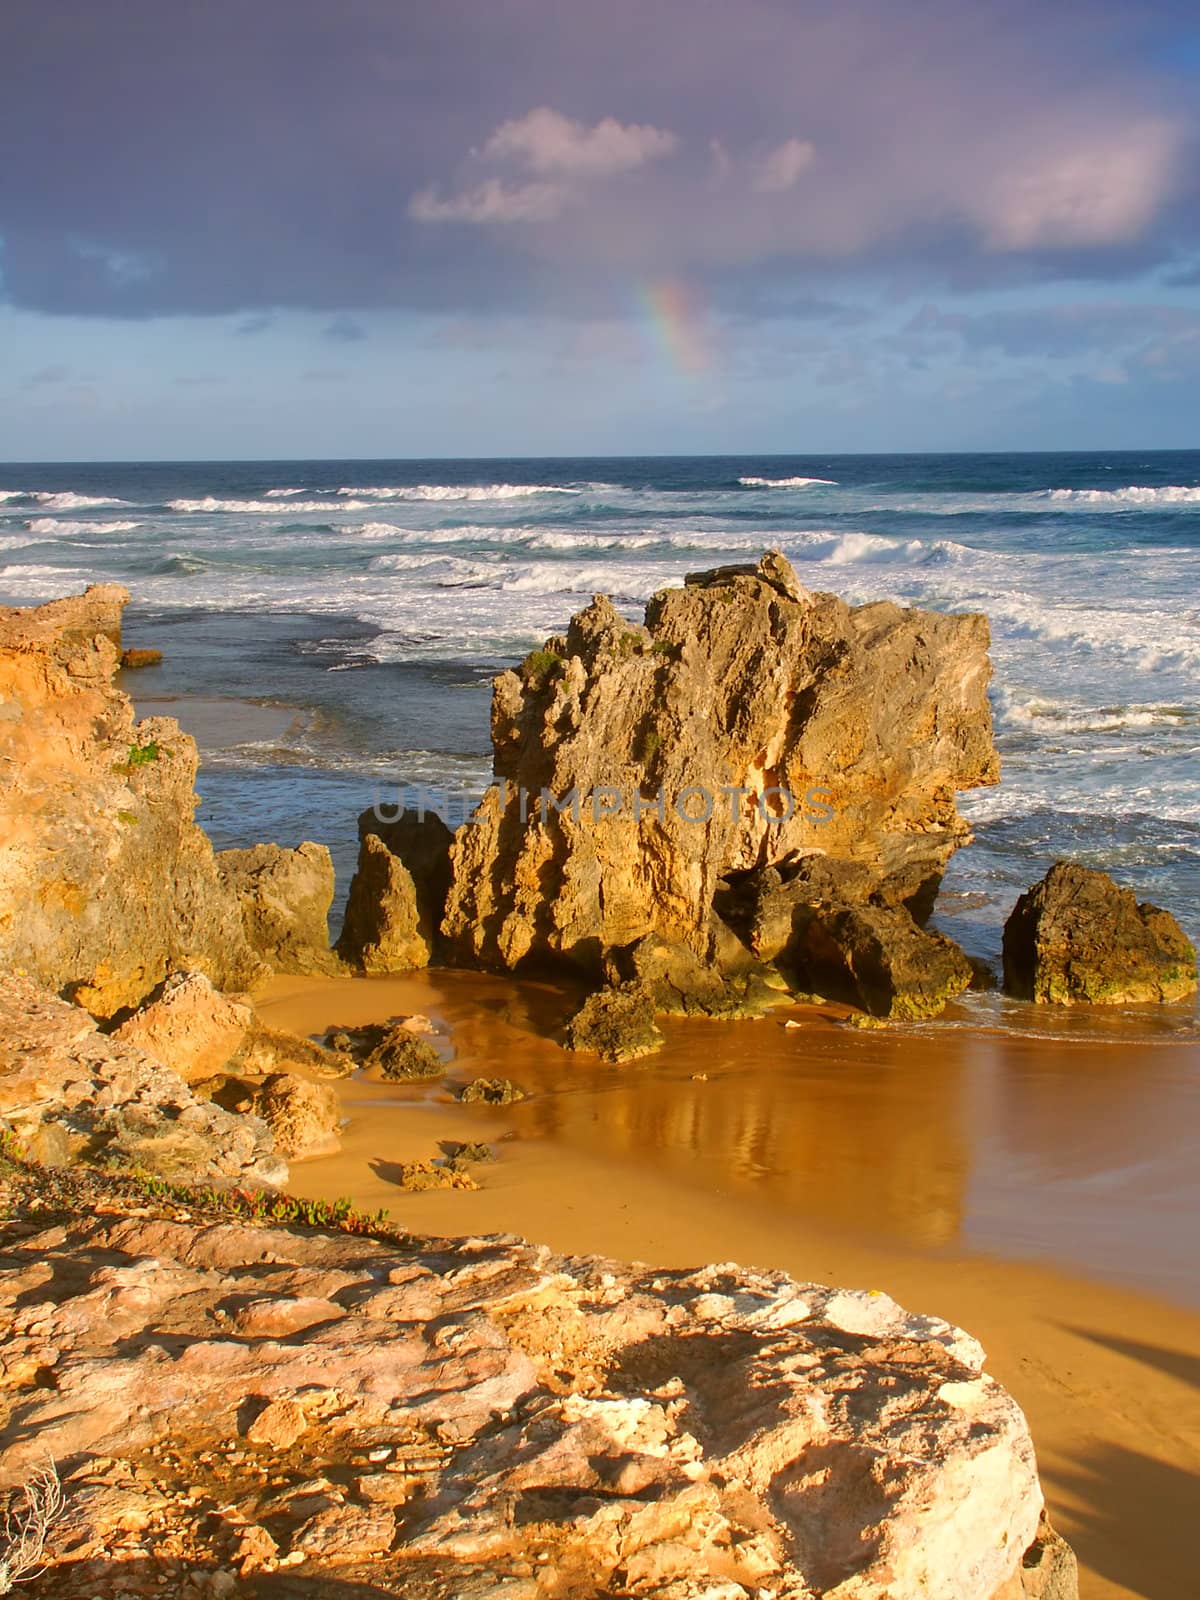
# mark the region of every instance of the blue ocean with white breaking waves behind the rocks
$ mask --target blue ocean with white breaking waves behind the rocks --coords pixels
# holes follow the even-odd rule
[[[0,602],[122,582],[126,643],[165,651],[136,694],[298,707],[210,742],[198,818],[328,843],[342,891],[378,797],[483,789],[494,672],[595,592],[634,616],[768,547],[851,602],[990,618],[1003,779],[960,797],[947,933],[995,962],[1072,856],[1200,936],[1200,451],[0,467]]]

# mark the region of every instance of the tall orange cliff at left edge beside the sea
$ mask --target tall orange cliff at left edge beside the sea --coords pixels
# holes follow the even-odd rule
[[[195,744],[114,688],[125,589],[0,608],[0,966],[96,1016],[264,974],[195,826]]]

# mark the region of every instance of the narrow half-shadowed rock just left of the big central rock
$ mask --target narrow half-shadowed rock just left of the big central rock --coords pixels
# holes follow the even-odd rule
[[[450,877],[446,824],[405,811],[358,818],[358,867],[350,882],[338,955],[365,973],[429,966]]]

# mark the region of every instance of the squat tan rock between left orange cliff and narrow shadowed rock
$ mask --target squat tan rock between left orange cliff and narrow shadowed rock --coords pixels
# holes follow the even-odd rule
[[[330,950],[333,858],[325,845],[221,850],[221,882],[242,907],[251,950],[274,973],[336,973]]]

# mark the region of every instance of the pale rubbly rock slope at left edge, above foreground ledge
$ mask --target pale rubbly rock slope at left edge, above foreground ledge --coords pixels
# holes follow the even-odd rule
[[[288,1176],[261,1118],[203,1099],[158,1056],[11,974],[0,974],[0,1123],[35,1157],[50,1141],[61,1163],[88,1155],[238,1187]]]

